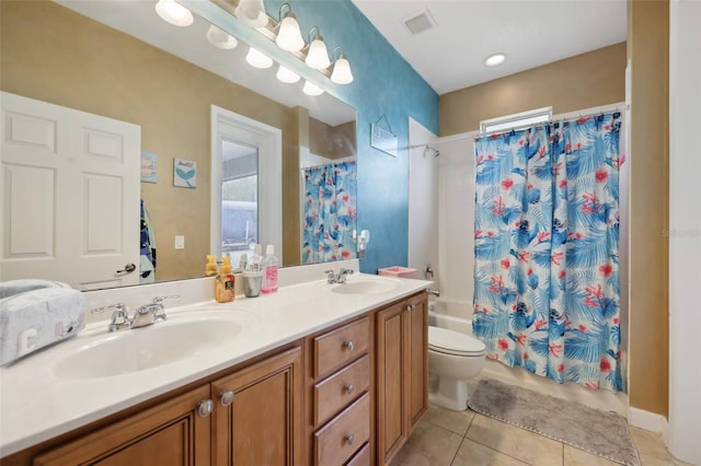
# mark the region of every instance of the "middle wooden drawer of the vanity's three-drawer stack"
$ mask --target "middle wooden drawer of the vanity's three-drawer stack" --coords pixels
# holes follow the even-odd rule
[[[314,426],[326,422],[369,385],[370,357],[367,354],[314,385]]]

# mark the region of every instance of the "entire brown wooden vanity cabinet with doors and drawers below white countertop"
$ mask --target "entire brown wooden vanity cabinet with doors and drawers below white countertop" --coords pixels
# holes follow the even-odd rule
[[[2,458],[5,465],[375,465],[427,407],[418,293]]]

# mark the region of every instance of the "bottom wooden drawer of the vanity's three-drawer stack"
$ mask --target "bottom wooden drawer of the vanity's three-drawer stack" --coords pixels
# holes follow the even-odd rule
[[[370,438],[370,395],[357,401],[314,434],[317,465],[342,465]]]

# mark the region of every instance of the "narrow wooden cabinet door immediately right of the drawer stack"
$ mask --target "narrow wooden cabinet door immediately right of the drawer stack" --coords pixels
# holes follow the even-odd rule
[[[404,304],[377,314],[377,445],[380,464],[389,462],[406,442],[405,419],[406,327]]]

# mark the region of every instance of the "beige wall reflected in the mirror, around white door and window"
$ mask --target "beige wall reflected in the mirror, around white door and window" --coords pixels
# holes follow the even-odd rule
[[[210,105],[281,128],[284,163],[295,158],[290,128],[297,115],[56,3],[2,1],[0,8],[0,89],[140,125],[142,150],[158,154],[158,184],[141,184],[156,231],[157,279],[203,276],[209,254]],[[197,162],[196,189],[173,187],[175,158]],[[284,224],[299,229],[298,212],[285,209]],[[175,251],[176,234],[185,236],[185,249]],[[284,246],[299,249],[299,233]]]

